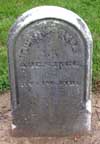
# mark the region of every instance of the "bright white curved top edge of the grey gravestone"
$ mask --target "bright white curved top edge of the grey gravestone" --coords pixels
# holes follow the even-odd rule
[[[59,19],[76,27],[91,45],[92,37],[86,23],[74,12],[58,6],[39,6],[22,14],[12,26],[9,39],[14,39],[18,33],[30,23],[41,19]]]

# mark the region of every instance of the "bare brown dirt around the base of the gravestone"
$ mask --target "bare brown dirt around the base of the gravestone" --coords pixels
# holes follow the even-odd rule
[[[74,137],[12,137],[10,94],[0,95],[0,144],[100,144],[100,93],[93,94],[91,134]]]

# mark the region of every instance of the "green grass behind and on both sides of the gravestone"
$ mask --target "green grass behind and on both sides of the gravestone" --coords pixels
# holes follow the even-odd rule
[[[94,41],[93,81],[100,80],[100,0],[0,0],[0,91],[9,89],[7,36],[23,12],[39,5],[57,5],[80,15],[88,24]]]

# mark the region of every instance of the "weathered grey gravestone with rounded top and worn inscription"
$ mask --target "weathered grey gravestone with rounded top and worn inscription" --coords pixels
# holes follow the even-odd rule
[[[91,129],[92,38],[75,13],[33,8],[8,40],[13,132],[66,136]]]

